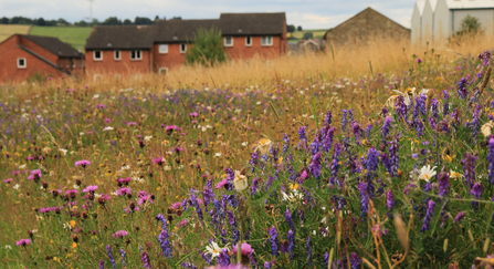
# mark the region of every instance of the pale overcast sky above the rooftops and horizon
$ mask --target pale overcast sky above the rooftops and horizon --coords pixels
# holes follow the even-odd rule
[[[413,0],[93,0],[93,18],[216,19],[221,12],[286,12],[287,24],[328,29],[371,7],[410,28]],[[90,0],[0,0],[0,17],[23,15],[70,22],[88,20]]]

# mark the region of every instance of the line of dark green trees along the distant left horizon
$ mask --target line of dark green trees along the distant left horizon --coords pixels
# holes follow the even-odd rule
[[[166,20],[165,17],[162,19]],[[156,15],[154,20],[146,17],[136,17],[134,20],[129,19],[120,20],[117,17],[109,17],[104,21],[93,19],[93,21],[81,20],[71,23],[63,18],[60,18],[59,20],[45,20],[43,18],[31,19],[27,17],[12,17],[12,18],[3,17],[0,19],[0,24],[23,24],[23,25],[40,25],[40,27],[150,25],[155,24],[156,21],[158,20],[160,20],[158,15]],[[181,17],[174,17],[171,18],[171,20],[181,20]]]

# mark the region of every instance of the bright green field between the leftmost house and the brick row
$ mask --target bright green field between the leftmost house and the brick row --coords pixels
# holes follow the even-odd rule
[[[33,27],[31,34],[59,38],[75,49],[82,49],[91,31],[87,27]]]

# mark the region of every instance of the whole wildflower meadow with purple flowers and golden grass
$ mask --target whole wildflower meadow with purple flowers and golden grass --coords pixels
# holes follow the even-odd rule
[[[1,85],[0,260],[494,266],[492,41]]]

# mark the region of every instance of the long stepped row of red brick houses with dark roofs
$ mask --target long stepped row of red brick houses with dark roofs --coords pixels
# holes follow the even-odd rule
[[[160,20],[148,27],[95,27],[86,45],[86,71],[104,74],[166,73],[183,65],[199,29],[218,29],[230,60],[274,59],[287,51],[285,13],[222,13],[213,20]],[[118,55],[118,58],[116,56]]]

